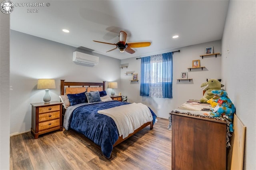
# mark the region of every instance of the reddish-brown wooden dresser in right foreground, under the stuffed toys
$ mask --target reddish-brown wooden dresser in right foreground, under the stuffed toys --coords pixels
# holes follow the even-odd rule
[[[226,122],[172,116],[172,170],[226,170]]]

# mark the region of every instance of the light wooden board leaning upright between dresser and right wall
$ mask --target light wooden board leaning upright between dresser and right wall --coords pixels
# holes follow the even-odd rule
[[[234,115],[234,132],[228,153],[228,170],[243,170],[245,131],[246,127],[240,119]]]

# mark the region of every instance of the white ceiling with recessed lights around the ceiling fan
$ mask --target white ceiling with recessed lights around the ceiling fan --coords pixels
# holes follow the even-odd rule
[[[228,0],[48,0],[42,7],[12,2],[15,5],[10,14],[12,30],[117,59],[221,40],[228,10]],[[38,12],[28,13],[36,8]],[[64,33],[62,29],[70,32]],[[121,30],[128,34],[128,43],[151,42],[151,45],[133,48],[134,54],[120,53],[118,49],[106,53],[115,45],[93,42],[117,43]],[[174,35],[179,37],[173,39]]]

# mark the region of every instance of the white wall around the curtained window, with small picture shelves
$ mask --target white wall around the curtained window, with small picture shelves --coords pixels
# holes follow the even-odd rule
[[[200,86],[208,78],[220,79],[220,66],[221,66],[221,55],[215,55],[200,57],[204,54],[205,47],[213,46],[214,52],[221,52],[221,41],[214,41],[208,43],[201,43],[197,45],[191,45],[187,47],[181,47],[179,53],[173,54],[173,86],[172,86],[172,99],[159,99],[151,97],[141,97],[140,96],[140,81],[131,82],[132,75],[126,75],[126,71],[135,71],[138,73],[138,79],[140,79],[140,59],[135,58],[123,59],[121,64],[128,63],[128,68],[124,67],[121,69],[121,89],[122,95],[127,95],[129,102],[144,103],[148,105],[158,117],[168,118],[169,113],[176,107],[182,105],[188,99],[201,99],[202,90]],[[176,51],[178,49],[173,49]],[[165,51],[168,52],[168,51]],[[163,53],[165,53],[163,52]],[[203,69],[188,69],[192,67],[193,60],[200,60],[201,66],[205,66]],[[192,81],[180,79],[181,72],[188,72],[188,78],[192,78]]]

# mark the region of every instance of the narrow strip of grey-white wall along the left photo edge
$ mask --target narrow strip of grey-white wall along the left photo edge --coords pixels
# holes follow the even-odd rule
[[[10,167],[10,15],[0,12],[0,169]]]

